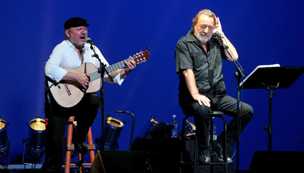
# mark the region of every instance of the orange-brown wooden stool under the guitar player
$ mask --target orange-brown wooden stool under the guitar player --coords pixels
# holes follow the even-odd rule
[[[73,134],[73,122],[74,122],[75,117],[69,117],[68,119],[68,125],[67,125],[67,139],[66,139],[66,153],[65,153],[65,166],[64,166],[64,172],[69,173],[70,171],[70,166],[77,166],[78,164],[76,163],[71,163],[71,151],[74,150],[74,145],[72,145],[72,134]],[[92,131],[91,127],[88,132],[88,149],[89,149],[89,154],[90,154],[90,163],[82,163],[79,172],[82,173],[82,166],[92,166],[92,163],[95,158],[95,145],[93,144],[93,138],[92,138]],[[78,154],[79,161],[81,161],[82,154]]]

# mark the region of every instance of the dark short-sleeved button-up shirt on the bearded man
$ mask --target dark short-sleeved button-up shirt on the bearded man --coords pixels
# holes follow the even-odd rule
[[[224,51],[216,38],[207,42],[207,52],[201,42],[189,30],[182,37],[175,49],[175,67],[179,75],[179,94],[186,100],[192,99],[182,72],[186,69],[193,70],[199,93],[212,95],[225,93],[222,75],[222,58],[226,58]],[[185,100],[185,101],[186,101]]]

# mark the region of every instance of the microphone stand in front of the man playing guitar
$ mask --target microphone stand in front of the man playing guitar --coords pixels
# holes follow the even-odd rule
[[[104,72],[106,72],[106,74],[110,77],[111,81],[113,81],[113,78],[109,75],[109,73],[107,72],[106,70],[106,64],[102,63],[99,56],[96,54],[95,52],[95,45],[90,43],[91,44],[91,49],[93,50],[94,52],[94,55],[92,55],[92,57],[95,57],[98,59],[99,61],[99,64],[100,64],[100,67],[98,68],[98,73],[100,73],[100,85],[101,85],[101,90],[100,90],[100,97],[101,97],[101,150],[104,150],[104,87],[103,87],[103,83],[104,83]],[[93,48],[93,45],[94,45],[94,48]]]

